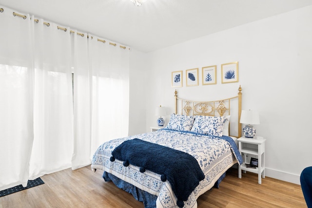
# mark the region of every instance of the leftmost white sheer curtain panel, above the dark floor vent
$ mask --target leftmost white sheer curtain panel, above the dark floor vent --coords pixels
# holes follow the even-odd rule
[[[27,185],[34,137],[31,20],[13,12],[0,13],[0,190]]]

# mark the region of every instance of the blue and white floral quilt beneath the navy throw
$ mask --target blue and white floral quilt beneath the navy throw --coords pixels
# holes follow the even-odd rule
[[[94,154],[91,168],[104,170],[104,174],[111,173],[138,189],[156,195],[157,208],[177,207],[177,198],[168,180],[161,181],[161,175],[150,170],[141,172],[140,167],[132,164],[125,167],[123,161],[116,159],[112,162],[110,160],[116,147],[126,140],[135,138],[186,152],[196,159],[205,178],[199,182],[199,185],[189,195],[188,200],[184,202],[185,208],[197,207],[196,199],[211,189],[226,170],[235,163],[241,162],[237,146],[234,140],[228,136],[217,137],[163,129],[119,138],[102,144]],[[106,174],[106,176],[108,175]]]

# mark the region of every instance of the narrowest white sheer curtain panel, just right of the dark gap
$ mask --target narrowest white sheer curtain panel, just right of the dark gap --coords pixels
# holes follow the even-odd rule
[[[87,37],[87,34],[83,34],[83,37],[72,36],[74,53],[73,170],[89,165],[93,154],[91,152],[92,69],[89,65],[88,55],[88,41],[91,38]]]

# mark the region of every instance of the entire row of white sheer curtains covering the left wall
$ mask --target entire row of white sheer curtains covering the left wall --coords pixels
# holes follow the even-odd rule
[[[0,8],[3,190],[88,165],[99,144],[127,136],[129,50]]]

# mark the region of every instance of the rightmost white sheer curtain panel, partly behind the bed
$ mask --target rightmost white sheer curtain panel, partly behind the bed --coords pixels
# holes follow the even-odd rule
[[[92,68],[92,145],[128,135],[129,50],[98,41],[89,44]]]

